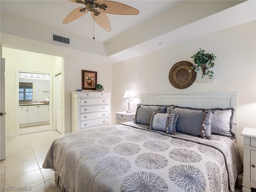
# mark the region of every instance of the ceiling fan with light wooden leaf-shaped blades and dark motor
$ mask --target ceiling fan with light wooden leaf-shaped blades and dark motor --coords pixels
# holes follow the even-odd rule
[[[92,12],[91,16],[96,23],[98,23],[104,30],[111,31],[110,22],[108,20],[108,14],[117,14],[117,15],[136,15],[139,14],[139,11],[135,8],[132,8],[128,5],[107,1],[107,0],[70,0],[75,3],[82,3],[85,5],[85,8],[80,7],[71,11],[66,18],[63,20],[63,24],[67,24],[75,19],[83,16],[87,12]]]

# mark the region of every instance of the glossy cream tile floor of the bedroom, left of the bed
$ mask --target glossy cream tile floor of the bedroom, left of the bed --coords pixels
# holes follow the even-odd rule
[[[0,192],[2,186],[31,186],[32,192],[61,192],[54,171],[42,168],[52,141],[60,135],[48,130],[6,138],[6,160],[0,161]],[[236,192],[242,192],[242,175],[238,176]]]

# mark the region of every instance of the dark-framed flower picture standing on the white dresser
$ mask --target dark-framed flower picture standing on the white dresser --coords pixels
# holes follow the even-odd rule
[[[82,70],[82,89],[96,90],[97,72]]]

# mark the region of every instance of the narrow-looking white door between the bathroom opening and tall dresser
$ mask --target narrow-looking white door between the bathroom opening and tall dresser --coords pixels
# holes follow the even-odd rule
[[[56,108],[56,130],[62,133],[62,89],[61,89],[61,74],[55,76],[55,88],[56,88],[56,98],[55,98],[55,108]]]

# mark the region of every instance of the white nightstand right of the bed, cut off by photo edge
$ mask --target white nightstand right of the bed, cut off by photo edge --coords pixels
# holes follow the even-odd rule
[[[250,192],[256,188],[256,129],[245,127],[244,136],[244,177],[242,191]]]

